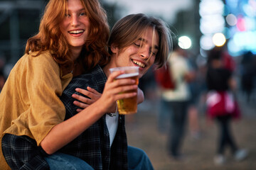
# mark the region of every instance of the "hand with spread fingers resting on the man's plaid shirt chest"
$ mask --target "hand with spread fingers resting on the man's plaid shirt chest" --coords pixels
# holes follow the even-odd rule
[[[86,97],[80,96],[78,94],[72,95],[73,98],[78,100],[78,101],[74,101],[73,104],[80,108],[87,108],[90,104],[97,101],[100,98],[100,96],[102,95],[99,92],[97,92],[95,89],[90,88],[89,86],[87,87],[87,90],[77,88],[77,89],[75,89],[75,91],[89,97],[89,98],[86,98]],[[82,109],[80,109],[80,108],[77,109],[78,112],[82,111]]]

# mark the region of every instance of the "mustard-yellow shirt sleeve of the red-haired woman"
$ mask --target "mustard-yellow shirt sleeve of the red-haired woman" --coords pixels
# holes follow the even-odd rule
[[[20,82],[16,83],[22,84],[21,99],[28,108],[13,123],[19,134],[28,135],[40,145],[48,132],[65,118],[65,106],[59,98],[63,92],[60,67],[49,53],[30,55],[20,76]]]

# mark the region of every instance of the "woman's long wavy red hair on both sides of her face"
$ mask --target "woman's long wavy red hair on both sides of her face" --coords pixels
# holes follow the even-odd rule
[[[97,0],[80,0],[85,7],[90,19],[90,33],[80,56],[83,60],[85,71],[90,71],[96,64],[107,64],[109,54],[107,52],[107,40],[110,28],[107,23],[105,10]],[[41,52],[49,50],[58,64],[65,67],[73,65],[70,57],[68,41],[60,31],[60,22],[63,21],[67,10],[67,0],[50,0],[41,19],[39,32],[29,38],[25,52]]]

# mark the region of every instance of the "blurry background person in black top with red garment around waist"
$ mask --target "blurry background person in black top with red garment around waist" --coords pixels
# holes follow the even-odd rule
[[[215,164],[225,163],[225,148],[230,147],[237,161],[247,157],[247,150],[239,149],[230,131],[230,120],[240,118],[238,103],[233,95],[236,82],[233,72],[225,67],[222,47],[215,47],[208,55],[208,70],[206,74],[207,115],[214,118],[218,124],[219,136]]]

